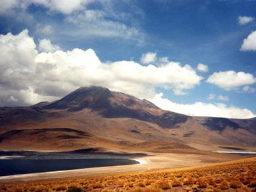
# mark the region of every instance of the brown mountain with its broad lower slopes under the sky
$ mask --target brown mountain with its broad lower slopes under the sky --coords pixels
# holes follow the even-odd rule
[[[0,148],[204,150],[256,148],[256,118],[187,116],[108,88],[81,87],[54,102],[0,108]]]

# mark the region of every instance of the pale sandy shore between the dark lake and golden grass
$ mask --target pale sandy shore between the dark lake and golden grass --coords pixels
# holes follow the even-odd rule
[[[130,164],[121,166],[107,166],[100,168],[85,168],[79,170],[68,170],[61,172],[33,173],[27,175],[14,175],[12,177],[0,177],[0,183],[23,183],[39,180],[74,179],[85,177],[99,177],[106,174],[119,173],[142,173],[150,170],[161,170],[170,168],[182,168],[191,166],[204,166],[212,163],[244,159],[245,156],[232,154],[177,154],[177,153],[147,153],[143,157],[132,159],[144,162],[141,164]]]

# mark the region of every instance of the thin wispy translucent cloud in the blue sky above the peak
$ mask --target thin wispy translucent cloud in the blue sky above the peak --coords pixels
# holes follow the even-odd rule
[[[72,31],[74,36],[83,34],[84,36],[103,38],[117,37],[125,40],[134,40],[138,44],[143,44],[144,34],[133,26],[116,21],[114,18],[116,15],[122,17],[122,13],[113,15],[109,10],[84,10],[83,12],[68,16],[66,21],[77,26]],[[88,26],[90,27],[88,28]]]

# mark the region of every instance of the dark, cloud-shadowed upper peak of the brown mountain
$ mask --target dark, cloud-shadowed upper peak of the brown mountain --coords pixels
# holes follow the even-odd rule
[[[45,105],[45,109],[80,111],[90,108],[106,118],[135,118],[164,128],[186,122],[188,116],[158,108],[146,99],[138,99],[120,92],[111,92],[99,86],[81,87],[63,99]]]

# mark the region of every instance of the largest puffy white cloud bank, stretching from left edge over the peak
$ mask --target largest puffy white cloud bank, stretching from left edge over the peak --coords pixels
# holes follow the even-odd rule
[[[51,41],[40,42],[40,51],[46,52],[38,52],[28,30],[0,36],[1,106],[52,101],[79,86],[90,85],[105,86],[136,97],[152,98],[158,86],[184,94],[203,79],[191,66],[177,62],[160,67],[143,66],[134,61],[102,63],[92,49],[53,51],[56,47]]]

